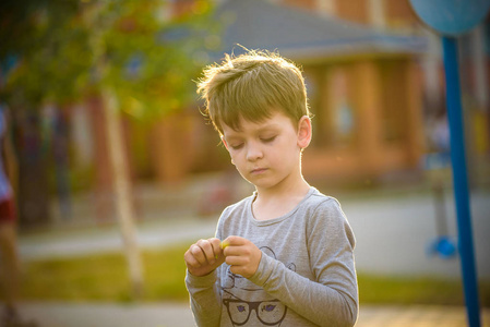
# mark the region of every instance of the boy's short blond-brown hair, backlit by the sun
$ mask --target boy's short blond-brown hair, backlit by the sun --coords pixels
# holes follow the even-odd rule
[[[240,119],[261,122],[282,111],[297,123],[310,116],[300,69],[278,53],[249,50],[226,55],[219,64],[206,66],[198,93],[206,101],[204,114],[223,135],[222,124],[240,129]]]

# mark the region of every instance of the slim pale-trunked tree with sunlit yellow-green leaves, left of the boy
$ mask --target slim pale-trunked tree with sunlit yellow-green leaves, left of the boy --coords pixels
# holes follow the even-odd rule
[[[128,165],[123,156],[118,108],[141,117],[177,110],[189,95],[187,81],[195,74],[196,53],[203,49],[200,16],[170,22],[160,16],[162,1],[98,2],[87,10],[95,52],[96,83],[106,104],[106,121],[115,177],[117,210],[127,247],[133,290],[142,287],[142,268],[133,232],[133,208]],[[206,1],[195,2],[201,14]],[[168,10],[168,8],[167,8]],[[202,17],[202,16],[201,16]]]

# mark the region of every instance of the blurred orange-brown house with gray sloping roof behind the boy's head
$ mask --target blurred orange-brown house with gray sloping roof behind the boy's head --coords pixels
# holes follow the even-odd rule
[[[222,1],[215,16],[223,24],[222,46],[208,52],[210,62],[246,47],[278,51],[302,66],[314,114],[313,143],[303,160],[307,177],[366,180],[419,169],[425,148],[418,59],[425,38],[265,0]],[[187,143],[164,142],[179,123],[191,133]],[[198,105],[166,124],[158,132],[168,143],[160,144],[163,158],[155,166],[160,180],[228,165]]]

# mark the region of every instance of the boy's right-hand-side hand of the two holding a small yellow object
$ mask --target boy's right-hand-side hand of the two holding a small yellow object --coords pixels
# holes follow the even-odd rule
[[[259,268],[262,251],[251,241],[240,237],[228,237],[222,243],[230,271],[250,278]]]

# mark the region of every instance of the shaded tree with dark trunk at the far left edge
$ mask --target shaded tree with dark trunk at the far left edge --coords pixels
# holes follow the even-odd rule
[[[0,9],[1,101],[12,109],[21,223],[46,221],[48,175],[40,109],[80,95],[89,70],[88,31],[76,1],[5,0]],[[68,82],[70,81],[70,82]]]

